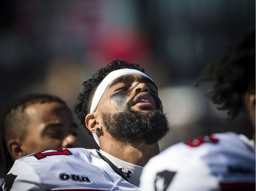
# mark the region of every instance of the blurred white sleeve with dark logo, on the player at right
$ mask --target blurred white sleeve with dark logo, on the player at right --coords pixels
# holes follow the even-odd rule
[[[141,191],[219,190],[208,166],[184,144],[177,144],[152,158],[141,174]]]

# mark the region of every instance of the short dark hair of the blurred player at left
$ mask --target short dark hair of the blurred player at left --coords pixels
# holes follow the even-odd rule
[[[1,115],[1,135],[3,152],[5,155],[5,168],[8,170],[13,164],[12,157],[8,152],[7,142],[10,139],[25,138],[26,126],[29,122],[27,115],[24,113],[29,105],[35,103],[61,103],[66,105],[66,102],[51,94],[32,93],[24,97],[18,98],[11,103]]]

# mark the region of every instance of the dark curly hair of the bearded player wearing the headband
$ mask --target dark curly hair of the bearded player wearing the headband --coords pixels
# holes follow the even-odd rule
[[[76,101],[76,105],[74,107],[74,112],[78,116],[81,124],[85,127],[85,116],[89,114],[89,109],[91,106],[91,99],[94,95],[94,92],[100,82],[111,73],[111,71],[115,71],[117,69],[137,69],[145,73],[145,70],[139,67],[136,63],[128,63],[124,60],[113,60],[109,65],[99,69],[92,77],[83,82],[82,91],[79,93]],[[87,128],[85,128],[87,129]],[[89,135],[92,135],[91,132],[87,129]]]

